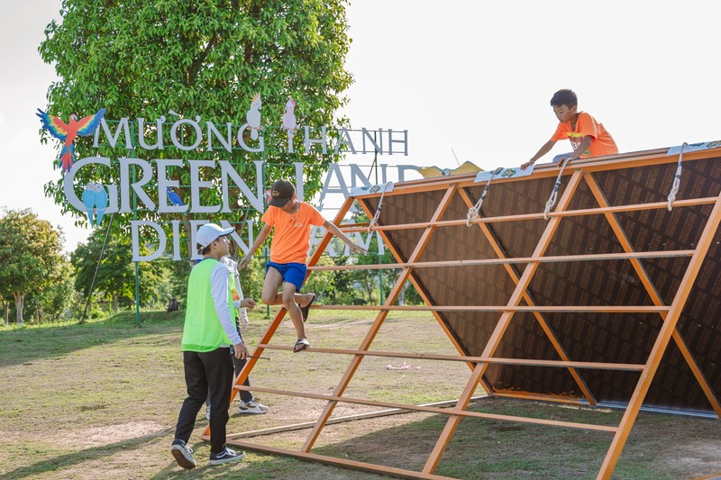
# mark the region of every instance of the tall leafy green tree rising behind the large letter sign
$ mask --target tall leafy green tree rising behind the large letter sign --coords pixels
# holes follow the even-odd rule
[[[336,112],[347,102],[343,92],[352,77],[344,68],[350,45],[345,16],[345,0],[64,0],[61,21],[50,23],[40,52],[42,59],[55,66],[59,81],[50,86],[48,113],[67,120],[70,113],[79,116],[107,109],[105,117],[133,121],[144,118],[151,123],[144,132],[149,143],[157,133],[155,119],[167,117],[164,134],[179,117],[201,116],[199,122],[214,122],[223,127],[233,122],[233,132],[246,121],[251,97],[260,93],[265,150],[249,153],[234,148],[173,148],[166,138],[163,150],[134,149],[132,152],[109,145],[92,148],[91,137],[78,137],[78,158],[105,156],[110,168],[98,166],[80,169],[75,181],[78,196],[88,182],[118,185],[120,172],[116,158],[181,158],[184,160],[230,160],[248,186],[256,185],[253,160],[266,160],[269,168],[264,185],[279,176],[294,177],[293,162],[305,162],[304,188],[310,198],[322,187],[322,176],[333,156],[317,151],[305,154],[302,135],[295,138],[296,152],[287,154],[287,137],[278,134],[288,97],[296,101],[298,125],[319,127],[345,124]],[[170,113],[170,112],[173,113]],[[112,126],[112,125],[111,125]],[[275,134],[273,134],[275,129]],[[205,130],[205,128],[204,128]],[[192,138],[190,128],[181,133]],[[221,129],[223,131],[223,129]],[[133,131],[137,137],[138,132]],[[244,131],[248,138],[249,132]],[[49,140],[47,132],[42,140]],[[133,139],[137,143],[137,138]],[[123,143],[122,141],[120,143]],[[251,141],[249,141],[251,143]],[[284,153],[285,152],[285,153]],[[222,195],[217,177],[219,168],[202,168],[203,180],[213,182],[204,188],[200,203],[220,204]],[[62,180],[46,185],[46,195],[65,205]],[[179,195],[189,204],[190,172],[188,162],[171,167],[169,177],[180,182]],[[157,202],[157,180],[143,187]],[[232,188],[233,213],[175,213],[188,220],[228,220],[241,231],[246,218],[258,212],[241,191]],[[160,221],[158,213],[139,205],[135,218]],[[82,213],[65,206],[76,222],[86,222]],[[127,236],[132,214],[121,215],[113,224],[114,235]],[[166,215],[164,220],[173,218]],[[164,228],[169,230],[167,222]],[[186,240],[187,241],[187,240]]]

